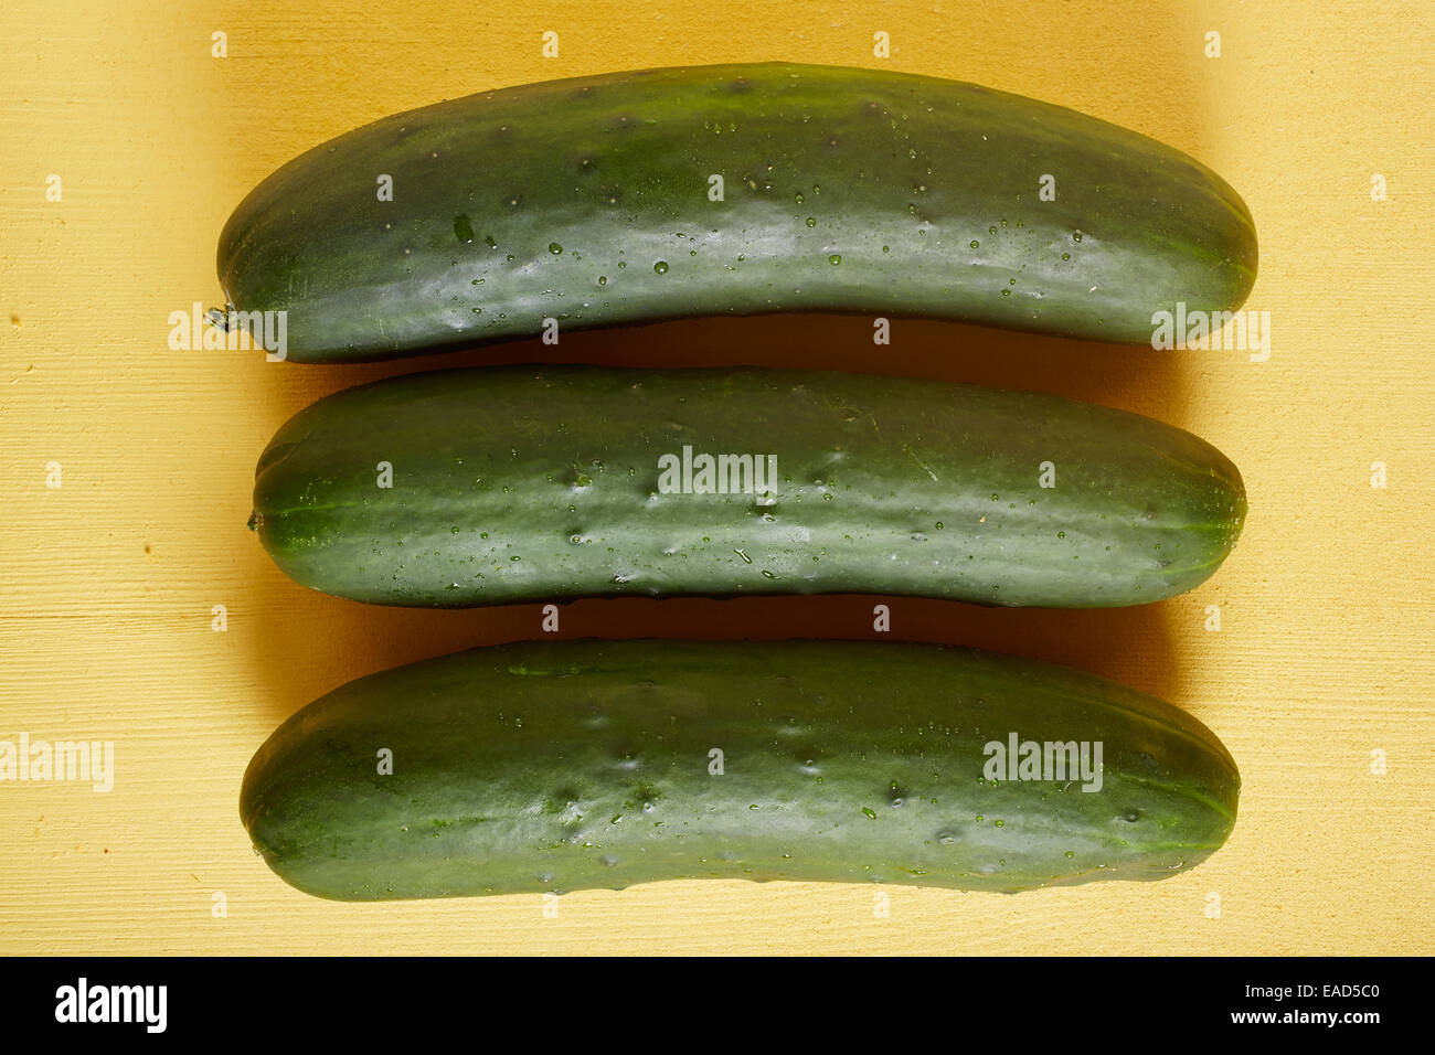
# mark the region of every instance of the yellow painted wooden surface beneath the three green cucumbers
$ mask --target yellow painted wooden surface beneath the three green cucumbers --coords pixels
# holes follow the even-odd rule
[[[113,741],[118,772],[109,794],[0,784],[0,952],[1435,952],[1432,29],[1428,0],[9,0],[0,739]],[[560,57],[540,55],[544,30]],[[885,63],[877,30],[893,39]],[[1220,57],[1205,55],[1208,32]],[[768,59],[887,65],[1075,106],[1191,152],[1250,204],[1266,363],[924,322],[898,323],[877,360],[865,320],[818,316],[561,346],[603,362],[761,356],[1049,389],[1214,442],[1241,466],[1251,512],[1195,593],[1095,613],[897,601],[894,629],[1066,662],[1188,708],[1241,766],[1231,841],[1158,884],[890,888],[890,919],[861,886],[662,883],[564,896],[557,919],[532,896],[344,906],[290,890],[237,817],[268,732],[357,675],[532,636],[538,611],[326,599],[245,531],[255,456],[290,413],[442,360],[171,352],[168,314],[220,301],[215,243],[240,198],[352,126],[491,86]],[[46,200],[52,174],[60,201]],[[1386,201],[1372,200],[1375,174]],[[557,357],[530,342],[451,362]],[[1388,465],[1388,488],[1372,488],[1372,462]],[[870,611],[860,597],[584,601],[564,610],[564,634],[861,636]]]

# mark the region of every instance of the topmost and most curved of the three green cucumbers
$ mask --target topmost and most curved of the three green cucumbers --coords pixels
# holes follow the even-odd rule
[[[397,113],[263,181],[218,251],[231,306],[288,313],[294,362],[779,310],[1148,343],[1177,301],[1240,307],[1256,266],[1240,195],[1174,148],[979,85],[788,63]]]

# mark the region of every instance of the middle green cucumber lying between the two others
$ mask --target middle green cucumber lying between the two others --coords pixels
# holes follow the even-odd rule
[[[735,474],[743,455],[752,472]],[[1244,514],[1240,472],[1208,444],[1058,396],[515,366],[314,403],[261,455],[250,525],[294,580],[379,604],[847,591],[1108,607],[1204,581]]]

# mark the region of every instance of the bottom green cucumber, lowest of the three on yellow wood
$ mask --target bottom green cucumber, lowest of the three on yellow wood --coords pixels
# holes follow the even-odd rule
[[[984,744],[1010,732],[1101,741],[1102,788],[984,779]],[[1058,666],[928,644],[580,640],[323,696],[255,754],[241,817],[281,878],[336,900],[700,877],[1015,893],[1172,876],[1224,843],[1238,792],[1194,718]]]

